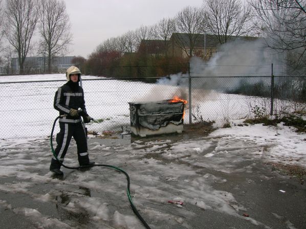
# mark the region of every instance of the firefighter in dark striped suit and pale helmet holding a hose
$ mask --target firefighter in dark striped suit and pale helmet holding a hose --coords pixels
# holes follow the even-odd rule
[[[93,165],[94,162],[89,159],[84,125],[84,123],[89,123],[92,118],[86,112],[83,88],[79,86],[80,77],[79,68],[69,67],[66,72],[68,82],[59,87],[55,93],[54,108],[59,111],[60,116],[63,116],[59,119],[60,131],[56,135],[55,154],[62,163],[73,137],[77,144],[78,162],[82,167]],[[53,156],[50,171],[56,175],[63,175],[60,166],[61,164]]]

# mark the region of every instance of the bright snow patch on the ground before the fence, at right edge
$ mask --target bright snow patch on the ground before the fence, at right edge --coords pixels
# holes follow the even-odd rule
[[[295,128],[262,124],[249,126],[234,126],[218,129],[210,134],[212,137],[222,136],[229,149],[236,147],[232,141],[254,142],[258,149],[255,154],[264,161],[288,165],[298,165],[306,168],[306,134],[296,133]],[[222,148],[222,150],[227,150]]]

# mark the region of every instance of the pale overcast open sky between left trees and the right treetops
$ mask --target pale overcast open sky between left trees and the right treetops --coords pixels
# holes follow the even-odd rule
[[[69,56],[85,58],[107,38],[123,35],[141,25],[174,17],[186,6],[203,0],[64,0],[71,22],[73,44]]]

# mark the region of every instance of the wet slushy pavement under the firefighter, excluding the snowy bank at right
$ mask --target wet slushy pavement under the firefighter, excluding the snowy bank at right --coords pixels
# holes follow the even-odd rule
[[[49,172],[49,139],[3,146],[1,228],[144,228],[122,173],[63,168],[58,177]],[[75,147],[65,164],[77,166]],[[96,163],[129,174],[133,202],[151,228],[306,228],[305,185],[274,171],[267,148],[252,141],[126,134],[89,139],[89,149]]]

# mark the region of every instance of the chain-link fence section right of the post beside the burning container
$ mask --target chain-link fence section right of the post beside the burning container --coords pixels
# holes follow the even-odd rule
[[[193,122],[209,118],[226,124],[230,120],[281,117],[302,111],[305,110],[305,86],[305,77],[193,78]]]

